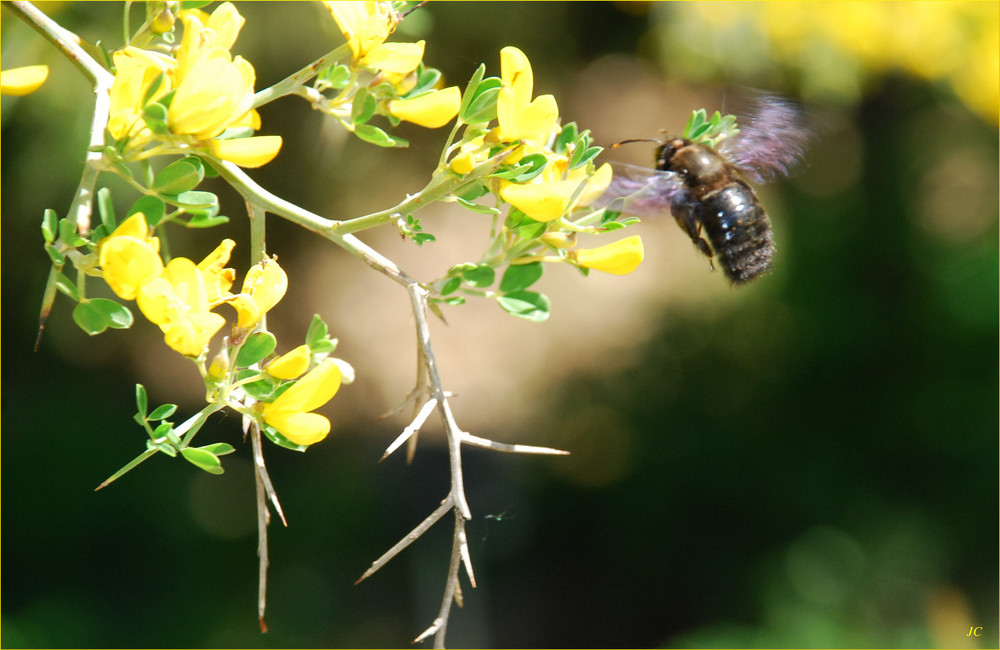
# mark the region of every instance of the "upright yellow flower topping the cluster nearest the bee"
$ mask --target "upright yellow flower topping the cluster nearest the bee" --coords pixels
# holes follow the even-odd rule
[[[547,140],[559,129],[555,97],[531,99],[534,77],[524,52],[516,47],[500,50],[500,79],[503,86],[497,95],[497,123],[501,142]]]

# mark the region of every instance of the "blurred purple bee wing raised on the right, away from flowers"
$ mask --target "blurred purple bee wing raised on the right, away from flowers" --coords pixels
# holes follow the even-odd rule
[[[766,183],[802,161],[812,131],[802,111],[786,99],[761,94],[739,121],[739,133],[717,147],[750,180]]]

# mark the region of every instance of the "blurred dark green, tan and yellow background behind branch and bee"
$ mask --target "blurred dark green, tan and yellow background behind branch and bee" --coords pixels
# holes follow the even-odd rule
[[[234,51],[258,88],[340,42],[316,5],[238,7]],[[120,44],[118,3],[43,8]],[[5,69],[51,74],[2,104],[0,644],[406,646],[436,615],[448,524],[353,585],[447,490],[433,427],[412,466],[376,463],[406,424],[375,420],[412,381],[406,296],[269,222],[292,283],[279,339],[321,313],[359,380],[325,411],[328,440],[266,449],[290,526],[271,526],[262,636],[238,419],[199,438],[239,447],[223,476],[156,458],[95,493],[143,449],[134,383],[191,413],[197,377],[148,323],[88,338],[65,298],[32,352],[48,269],[38,226],[71,201],[92,95],[6,10],[2,29]],[[447,2],[403,23],[396,40],[427,39],[449,83],[480,62],[498,74],[499,49],[520,47],[536,94],[604,146],[676,132],[748,87],[802,101],[817,132],[805,168],[760,192],[779,257],[754,285],[725,286],[666,219],[634,229],[647,259],[632,276],[548,272],[547,324],[469,305],[434,325],[464,428],[572,452],[466,452],[479,587],[449,645],[997,646],[997,29],[995,2]],[[380,150],[291,98],[262,117],[285,146],[252,176],[336,218],[419,189],[445,136],[404,126],[411,148]],[[610,153],[649,163],[631,147]],[[122,209],[134,199],[108,184]],[[232,236],[242,275],[243,207],[215,189],[232,222],[172,245],[198,259]],[[478,255],[476,219],[429,213],[439,242],[421,249],[363,238],[431,279]],[[982,637],[966,637],[973,626]]]

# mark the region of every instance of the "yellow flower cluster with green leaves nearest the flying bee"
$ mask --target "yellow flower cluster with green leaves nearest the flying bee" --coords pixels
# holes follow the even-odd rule
[[[614,221],[617,215],[607,210],[588,207],[610,184],[611,166],[595,167],[593,160],[601,149],[591,146],[589,133],[579,132],[576,124],[560,124],[552,95],[534,96],[534,78],[525,54],[516,47],[503,48],[500,78],[480,79],[477,85],[466,91],[471,95],[470,108],[459,117],[469,128],[466,138],[452,148],[448,168],[465,176],[498,157],[500,167],[485,179],[480,193],[492,191],[511,209],[483,262],[453,267],[441,282],[442,294],[454,290],[458,278],[473,288],[483,286],[484,279],[491,277],[483,270],[485,266],[508,263],[511,266],[500,285],[501,306],[515,315],[541,319],[547,309],[544,297],[524,291],[541,274],[536,262],[564,262],[616,275],[634,271],[643,259],[638,236],[596,248],[576,248],[578,233],[602,233],[628,223]],[[480,101],[485,97],[493,98],[494,113],[474,108],[485,103]],[[470,115],[486,118],[487,124],[478,127]],[[487,128],[494,116],[496,126]],[[467,192],[465,198],[477,195]],[[464,205],[475,207],[467,201]],[[533,309],[523,311],[525,302]]]

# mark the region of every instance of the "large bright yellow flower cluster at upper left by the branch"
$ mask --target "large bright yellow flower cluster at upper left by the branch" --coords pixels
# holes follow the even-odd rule
[[[253,110],[256,73],[230,52],[244,19],[225,2],[211,15],[180,12],[184,34],[174,56],[134,46],[114,53],[108,132],[125,159],[153,151],[195,150],[243,167],[270,162],[280,136],[250,136],[260,128]]]

